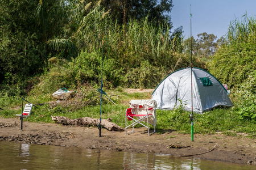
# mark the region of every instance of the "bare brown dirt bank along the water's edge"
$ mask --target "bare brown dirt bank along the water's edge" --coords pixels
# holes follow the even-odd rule
[[[20,130],[19,118],[0,118],[0,141],[193,156],[256,165],[256,140],[246,137],[195,134],[192,142],[191,135],[176,131],[148,136],[146,128],[137,128],[129,135],[125,131],[102,129],[101,135],[99,137],[97,128],[27,121],[23,122],[23,130]]]

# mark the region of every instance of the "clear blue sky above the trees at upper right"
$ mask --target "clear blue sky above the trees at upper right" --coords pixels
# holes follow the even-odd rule
[[[256,0],[172,0],[172,24],[183,26],[183,36],[190,37],[190,9],[192,9],[192,36],[213,33],[219,39],[228,31],[230,22],[247,16],[256,18]],[[191,5],[191,8],[190,8]]]

